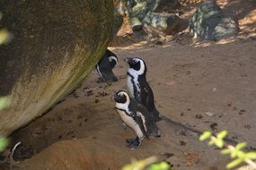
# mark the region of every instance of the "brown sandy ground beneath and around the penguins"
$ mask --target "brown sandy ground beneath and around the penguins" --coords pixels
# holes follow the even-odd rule
[[[230,8],[227,12],[240,13],[234,8],[240,1],[219,2]],[[161,152],[174,154],[168,159],[174,169],[225,169],[228,157],[200,142],[196,133],[165,121],[157,123],[161,139],[145,140],[137,150],[125,146],[125,139],[134,133],[120,122],[110,96],[126,89],[128,65],[123,59],[128,56],[146,61],[147,80],[162,115],[199,131],[227,130],[230,138],[247,141],[255,149],[256,10],[252,4],[255,1],[244,4],[247,13],[235,14],[241,27],[237,38],[217,43],[199,43],[184,35],[163,45],[146,44],[124,38],[128,30],[123,29],[110,47],[119,56],[114,69],[119,81],[98,83],[92,72],[46,115],[14,132],[13,142],[22,141],[15,157],[35,154],[14,169],[120,169],[130,157]]]

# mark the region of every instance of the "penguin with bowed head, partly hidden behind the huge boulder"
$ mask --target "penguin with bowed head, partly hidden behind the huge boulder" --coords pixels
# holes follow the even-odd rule
[[[96,64],[95,70],[100,75],[101,81],[118,81],[112,69],[119,63],[117,55],[109,49],[102,56],[102,59]]]

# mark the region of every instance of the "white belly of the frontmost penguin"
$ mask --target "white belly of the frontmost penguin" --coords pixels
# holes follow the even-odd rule
[[[138,138],[144,138],[144,134],[141,132],[138,124],[135,122],[135,120],[128,116],[124,111],[117,110],[119,113],[120,119],[128,125],[129,128],[131,128],[134,132],[136,132]]]

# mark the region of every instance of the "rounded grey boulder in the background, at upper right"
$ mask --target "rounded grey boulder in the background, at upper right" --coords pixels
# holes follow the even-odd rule
[[[229,15],[213,1],[200,4],[190,21],[194,38],[219,40],[234,36],[238,26]]]

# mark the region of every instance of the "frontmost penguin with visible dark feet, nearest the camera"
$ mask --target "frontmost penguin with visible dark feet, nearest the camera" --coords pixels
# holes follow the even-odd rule
[[[119,90],[114,95],[116,101],[115,109],[120,119],[137,135],[135,139],[127,139],[128,148],[138,149],[142,141],[150,137],[160,138],[161,134],[154,122],[153,117],[148,113],[145,106],[136,99],[130,98],[124,90]]]

